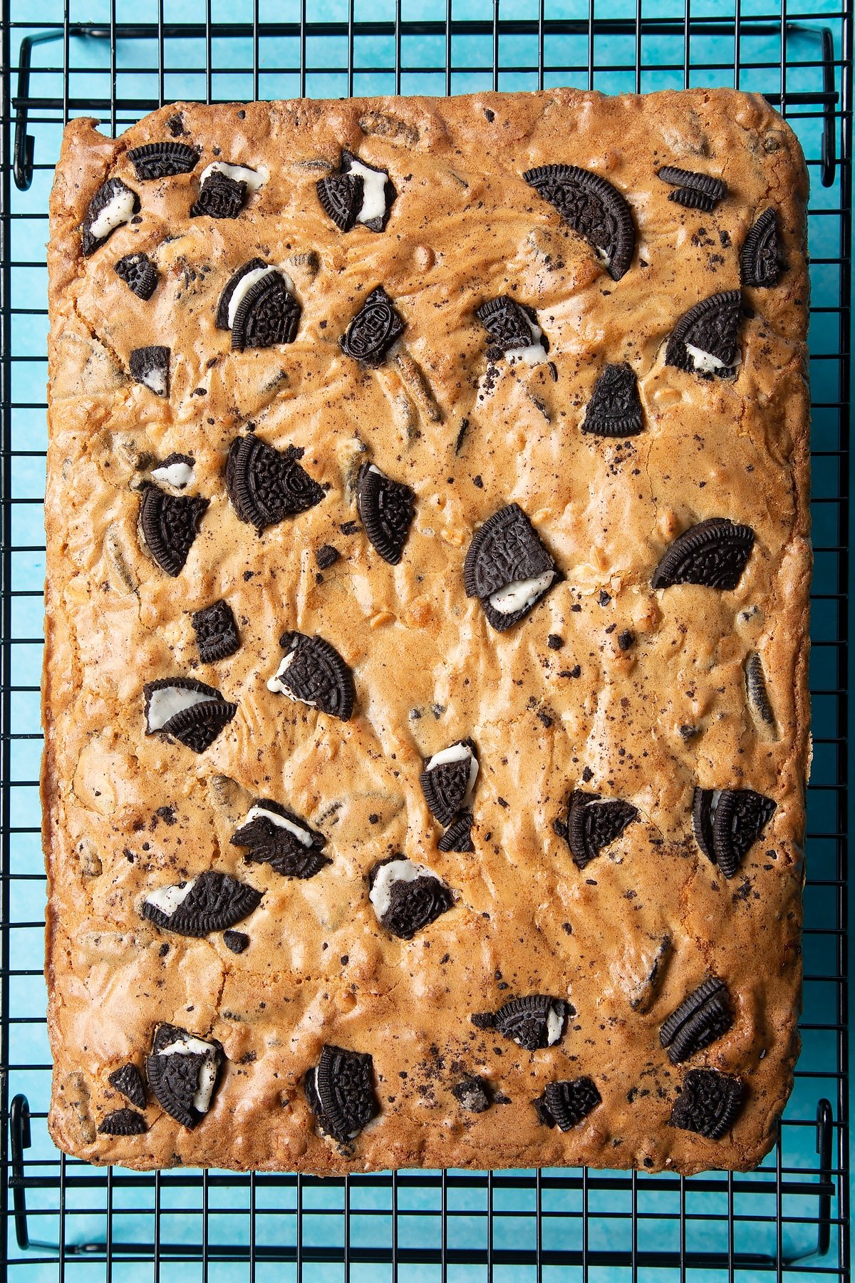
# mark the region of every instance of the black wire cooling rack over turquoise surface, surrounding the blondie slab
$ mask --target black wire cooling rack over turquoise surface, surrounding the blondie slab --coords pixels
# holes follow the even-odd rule
[[[13,1279],[849,1278],[846,771],[852,3],[4,0],[0,1212]],[[47,1138],[38,666],[47,191],[69,115],[120,131],[176,98],[735,85],[811,176],[814,766],[804,1052],[743,1175],[132,1174]]]

